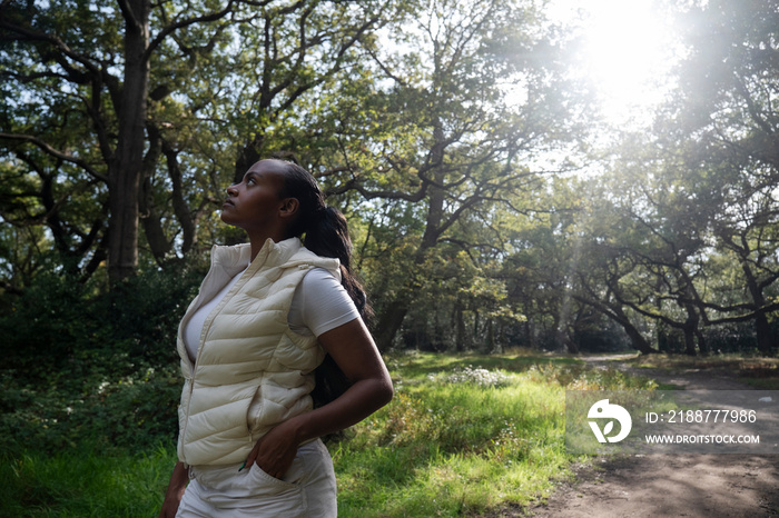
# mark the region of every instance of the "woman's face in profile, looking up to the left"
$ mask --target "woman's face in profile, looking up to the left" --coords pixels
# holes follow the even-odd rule
[[[279,222],[288,201],[278,196],[284,175],[283,163],[276,160],[262,160],[252,166],[240,183],[227,188],[221,220],[247,231]]]

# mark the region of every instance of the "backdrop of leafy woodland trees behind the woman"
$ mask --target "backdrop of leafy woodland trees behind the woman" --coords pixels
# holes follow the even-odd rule
[[[776,2],[653,2],[674,60],[630,123],[554,3],[0,2],[4,347],[168,358],[278,157],[347,216],[383,350],[776,353]]]

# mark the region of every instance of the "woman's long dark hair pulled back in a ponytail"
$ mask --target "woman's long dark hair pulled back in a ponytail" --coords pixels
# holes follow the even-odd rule
[[[352,240],[344,215],[325,203],[316,179],[300,166],[284,161],[286,171],[280,198],[297,199],[298,216],[287,230],[287,238],[303,238],[305,247],[321,257],[341,261],[341,283],[357,307],[363,320],[369,321],[373,310],[365,290],[352,271]],[[336,399],[351,386],[329,355],[315,371],[316,387],[312,391],[314,407]]]

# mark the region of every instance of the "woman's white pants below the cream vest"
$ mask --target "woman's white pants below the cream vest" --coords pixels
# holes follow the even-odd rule
[[[336,518],[333,459],[321,440],[300,446],[284,480],[255,462],[190,467],[190,481],[176,518]]]

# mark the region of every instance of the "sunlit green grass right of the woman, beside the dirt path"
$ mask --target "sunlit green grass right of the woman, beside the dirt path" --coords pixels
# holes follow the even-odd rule
[[[574,460],[564,447],[566,388],[647,388],[614,370],[522,351],[416,353],[387,363],[395,400],[334,450],[343,517],[476,516],[527,506],[545,498]]]

